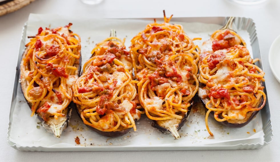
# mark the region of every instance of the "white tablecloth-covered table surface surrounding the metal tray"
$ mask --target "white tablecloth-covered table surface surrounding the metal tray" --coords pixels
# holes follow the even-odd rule
[[[0,64],[1,97],[0,113],[0,161],[279,161],[280,145],[280,84],[273,76],[268,53],[272,42],[280,35],[280,1],[267,0],[256,5],[240,5],[229,0],[104,0],[98,5],[86,5],[79,0],[37,0],[0,17],[0,45],[3,63]],[[257,37],[265,71],[269,98],[273,140],[260,149],[205,150],[205,151],[97,151],[97,152],[27,152],[13,149],[7,144],[9,111],[17,66],[19,42],[24,23],[30,13],[80,15],[92,18],[154,18],[162,17],[162,11],[174,17],[248,17],[256,24]],[[6,70],[11,69],[11,70]]]

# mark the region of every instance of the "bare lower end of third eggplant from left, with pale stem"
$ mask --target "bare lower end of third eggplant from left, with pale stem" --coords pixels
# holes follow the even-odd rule
[[[164,134],[172,134],[175,139],[179,139],[181,136],[178,133],[178,130],[188,121],[190,112],[193,104],[188,107],[188,112],[182,112],[180,115],[182,119],[168,119],[168,120],[153,120],[152,127],[157,128]]]

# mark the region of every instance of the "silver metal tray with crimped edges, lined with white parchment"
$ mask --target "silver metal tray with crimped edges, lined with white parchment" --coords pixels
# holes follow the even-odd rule
[[[191,37],[209,39],[211,33],[219,29],[227,17],[182,17],[172,18],[170,23],[182,24],[184,31]],[[39,27],[57,27],[73,23],[71,30],[78,33],[82,40],[82,63],[90,57],[95,43],[109,36],[110,29],[116,29],[119,38],[126,38],[126,47],[134,35],[144,30],[154,19],[91,19],[66,17],[61,15],[31,14],[23,27],[22,40],[15,85],[11,101],[7,143],[22,151],[133,151],[133,150],[214,150],[214,149],[258,149],[272,141],[269,102],[248,125],[242,128],[225,128],[214,119],[208,119],[214,137],[206,131],[205,119],[199,111],[192,111],[187,123],[180,129],[180,139],[163,134],[151,127],[145,115],[136,122],[137,131],[130,131],[118,138],[103,137],[88,129],[72,111],[69,127],[61,138],[55,138],[41,127],[37,117],[30,117],[31,111],[25,103],[19,87],[19,64],[28,35],[37,33]],[[157,22],[163,21],[158,18]],[[250,18],[236,17],[233,28],[246,41],[252,57],[259,58],[257,65],[263,69],[255,23]],[[200,45],[202,41],[195,41]],[[250,44],[251,43],[251,44]],[[265,85],[264,85],[265,86]],[[266,89],[265,89],[265,93]],[[75,143],[79,137],[80,145]]]

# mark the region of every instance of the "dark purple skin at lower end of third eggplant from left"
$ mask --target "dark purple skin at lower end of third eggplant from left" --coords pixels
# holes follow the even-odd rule
[[[192,106],[193,106],[193,104],[191,104],[191,105],[188,107],[188,112],[187,112],[187,113],[182,114],[182,115],[184,115],[184,117],[180,120],[180,123],[179,123],[178,126],[177,126],[177,131],[180,130],[181,127],[188,121],[189,116],[190,116],[190,113],[191,113]],[[156,120],[153,120],[153,122],[152,122],[152,127],[157,128],[159,131],[161,131],[161,132],[164,133],[164,134],[170,134],[170,133],[171,133],[170,130],[168,130],[168,129],[162,127],[162,126],[160,126],[160,125],[158,124],[158,121],[156,121]]]

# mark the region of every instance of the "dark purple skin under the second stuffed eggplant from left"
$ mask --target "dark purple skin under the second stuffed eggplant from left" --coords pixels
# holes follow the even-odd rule
[[[79,108],[80,105],[78,105],[78,104],[74,104],[74,105],[75,105],[76,111],[78,113],[78,116],[80,117],[81,121],[83,122],[83,120],[82,120],[82,118],[80,116],[80,113],[82,112],[82,110]],[[90,128],[91,130],[99,133],[100,135],[103,135],[103,136],[106,136],[106,137],[111,137],[111,138],[121,137],[121,136],[127,134],[130,131],[130,129],[132,129],[132,127],[131,127],[131,128],[128,128],[128,129],[123,129],[121,131],[105,132],[105,131],[100,131],[100,130],[94,128],[94,127],[91,127],[90,125],[87,125],[87,124],[85,124],[85,125],[88,128]]]

